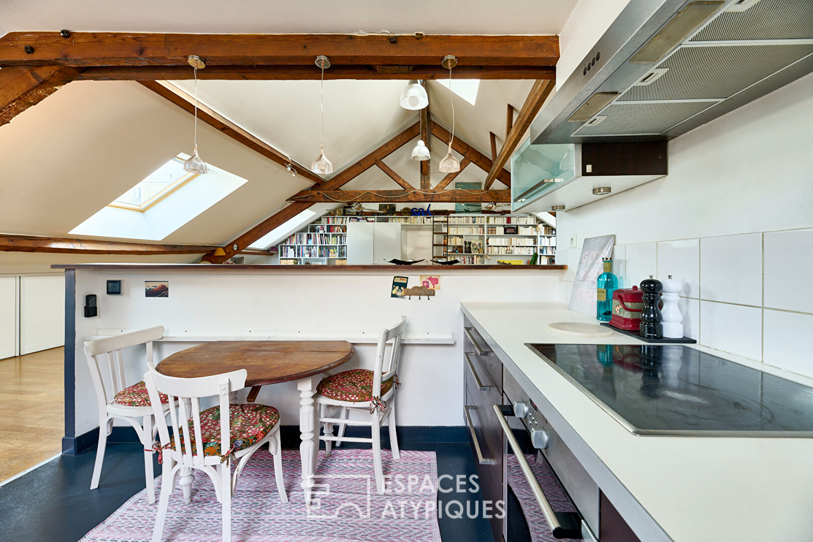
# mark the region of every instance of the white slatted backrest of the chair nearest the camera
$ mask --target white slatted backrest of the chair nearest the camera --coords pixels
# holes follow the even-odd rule
[[[220,462],[220,457],[204,456],[201,436],[201,398],[218,397],[220,403],[220,451],[226,454],[231,449],[228,418],[228,394],[246,385],[248,371],[241,369],[220,375],[201,376],[198,378],[176,378],[162,375],[150,367],[144,375],[144,383],[150,394],[153,405],[155,425],[158,427],[161,448],[167,448],[171,442],[167,427],[165,406],[161,405],[159,394],[167,394],[169,400],[169,417],[172,423],[174,440],[172,457],[185,466],[202,467]],[[193,420],[192,431],[189,431],[189,419]],[[191,437],[194,436],[194,440]],[[194,444],[194,448],[190,444]]]

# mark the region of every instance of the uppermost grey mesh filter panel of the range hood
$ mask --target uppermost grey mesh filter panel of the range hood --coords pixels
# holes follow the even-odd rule
[[[724,11],[689,41],[803,40],[813,36],[810,0],[760,0]]]

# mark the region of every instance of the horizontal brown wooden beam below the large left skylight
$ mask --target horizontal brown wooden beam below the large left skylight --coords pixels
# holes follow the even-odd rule
[[[158,245],[154,243],[98,241],[69,237],[0,236],[0,251],[3,252],[153,256],[158,254],[205,254],[215,248],[217,247],[211,245]]]

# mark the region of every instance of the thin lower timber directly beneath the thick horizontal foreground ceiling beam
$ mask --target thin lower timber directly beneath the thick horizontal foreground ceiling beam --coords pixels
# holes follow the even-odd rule
[[[442,66],[411,66],[408,72],[380,72],[372,66],[336,66],[324,72],[325,80],[409,80],[443,79],[449,71]],[[198,79],[218,80],[319,80],[315,66],[231,65],[207,66],[198,70]],[[521,80],[552,79],[552,66],[458,66],[454,75],[461,79]],[[85,68],[77,80],[190,80],[189,66],[96,66]]]

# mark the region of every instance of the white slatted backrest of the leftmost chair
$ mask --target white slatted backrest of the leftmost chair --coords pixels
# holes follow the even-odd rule
[[[163,338],[163,326],[141,329],[137,332],[124,333],[105,337],[104,339],[85,340],[85,358],[90,369],[90,379],[93,380],[93,388],[96,390],[99,408],[104,412],[108,401],[112,401],[116,393],[127,388],[124,381],[124,358],[121,351],[130,346],[146,344],[147,367],[153,366],[153,344],[152,341]],[[111,389],[105,388],[105,380],[102,378],[100,363],[102,358],[107,358],[103,363],[110,373]],[[106,371],[107,372],[107,371]],[[139,371],[140,372],[140,371]],[[134,384],[134,383],[133,383]],[[108,399],[108,392],[110,398]]]

